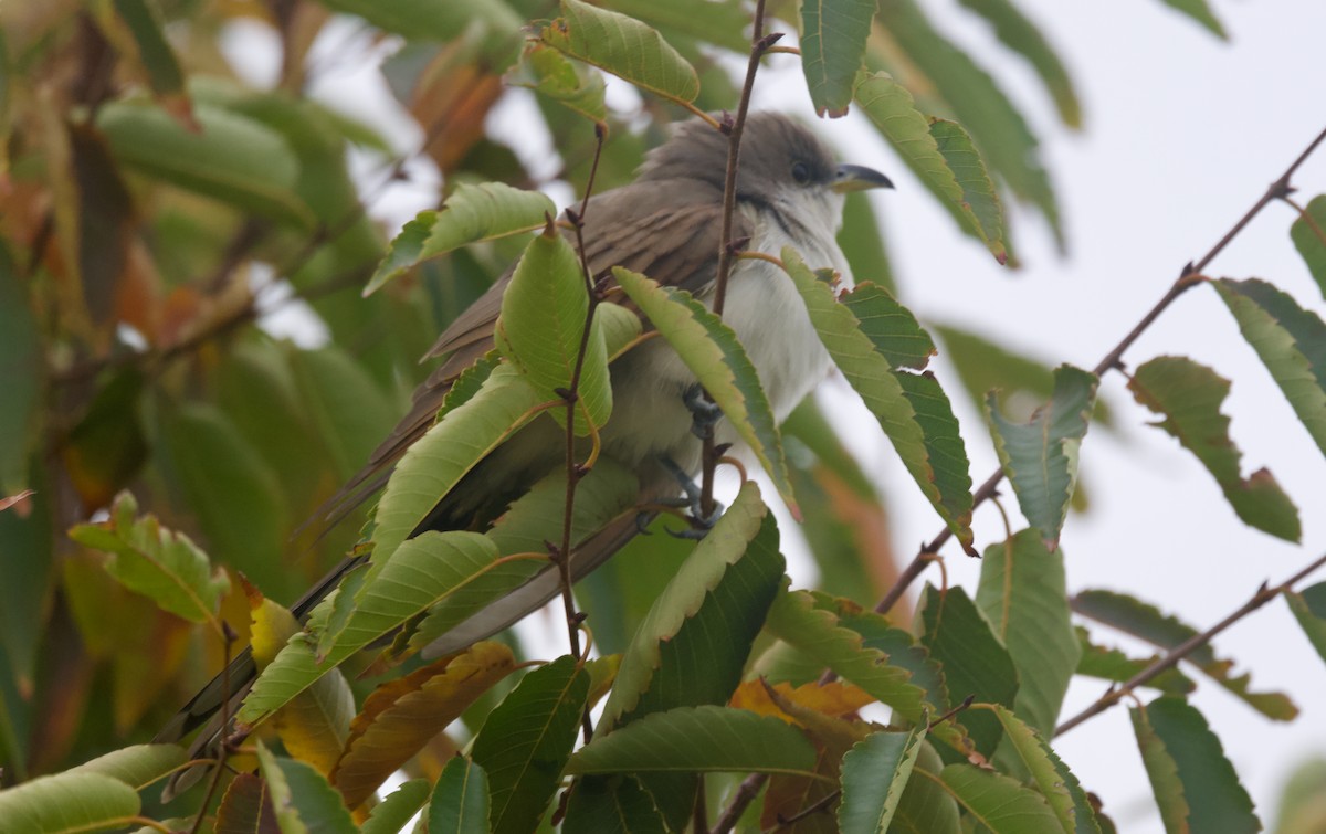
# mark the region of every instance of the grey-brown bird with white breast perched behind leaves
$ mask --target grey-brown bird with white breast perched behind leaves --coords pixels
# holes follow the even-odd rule
[[[613,267],[625,267],[711,304],[724,243],[727,158],[727,135],[705,122],[687,122],[648,154],[634,183],[593,196],[582,228],[593,274],[609,276]],[[798,122],[773,113],[751,114],[736,179],[733,239],[748,239],[747,248],[770,255],[792,245],[812,267],[831,267],[850,284],[851,273],[837,243],[843,194],[878,187],[891,183],[870,168],[834,163],[825,145]],[[446,359],[415,391],[410,414],[342,491],[339,506],[362,501],[386,481],[404,451],[434,424],[456,377],[492,349],[509,278],[508,273],[499,280],[434,345],[427,358]],[[792,281],[768,261],[737,261],[723,318],[745,346],[774,416],[782,420],[829,370],[829,355]],[[675,473],[695,475],[699,469],[700,440],[691,431],[692,414],[684,402],[686,394],[695,390],[695,377],[667,342],[656,338],[619,358],[610,373],[614,411],[602,432],[603,453],[639,473],[642,501],[675,496]],[[721,423],[716,431],[719,442],[733,439]],[[550,419],[530,424],[442,497],[416,533],[469,526],[484,505],[518,495],[562,465],[564,442]],[[573,577],[590,573],[635,532],[634,524],[623,524],[597,536],[573,554]],[[296,603],[296,615],[306,615],[354,564],[347,560],[310,590]],[[428,654],[455,651],[489,636],[541,607],[558,590],[556,570],[545,570],[446,635]],[[253,674],[245,652],[231,670],[231,692],[247,691]],[[223,695],[219,678],[156,740],[187,736],[220,708]]]

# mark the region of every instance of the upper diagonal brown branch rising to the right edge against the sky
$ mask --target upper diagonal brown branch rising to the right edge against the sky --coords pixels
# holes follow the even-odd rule
[[[1219,256],[1225,247],[1228,247],[1229,243],[1237,237],[1238,233],[1242,232],[1258,213],[1261,213],[1261,209],[1264,209],[1273,200],[1285,199],[1293,192],[1294,188],[1290,184],[1290,179],[1293,178],[1294,171],[1303,164],[1303,162],[1322,145],[1322,142],[1326,142],[1326,130],[1322,130],[1317,134],[1317,138],[1307,143],[1307,147],[1303,149],[1303,151],[1294,159],[1293,163],[1290,163],[1288,168],[1285,168],[1285,172],[1266,187],[1266,191],[1257,199],[1256,203],[1253,203],[1252,208],[1244,212],[1242,217],[1240,217],[1238,221],[1235,223],[1229,231],[1225,232],[1225,235],[1213,247],[1211,247],[1205,255],[1201,256],[1201,260],[1195,264],[1189,263],[1180,270],[1179,277],[1170,286],[1160,301],[1158,301],[1156,305],[1142,317],[1136,326],[1134,326],[1132,330],[1130,330],[1128,334],[1124,335],[1119,343],[1105,354],[1105,357],[1097,363],[1093,369],[1093,373],[1097,377],[1105,375],[1119,367],[1119,361],[1123,358],[1124,351],[1127,351],[1128,347],[1138,341],[1138,338],[1160,317],[1162,313],[1166,312],[1166,309],[1170,308],[1171,304],[1175,302],[1176,298],[1179,298],[1179,296],[1204,280],[1203,272],[1211,265],[1211,261],[1213,261],[1216,256]],[[983,483],[976,492],[972,493],[973,509],[988,501],[994,495],[994,491],[1002,480],[1002,469],[996,469],[988,479],[985,479],[985,483]],[[883,598],[880,598],[880,601],[875,605],[876,613],[886,614],[899,599],[902,599],[911,583],[915,582],[916,578],[926,570],[926,565],[931,561],[931,554],[937,553],[944,542],[952,537],[952,534],[951,529],[944,528],[930,544],[920,548],[912,561],[898,575],[898,581],[894,586],[888,589],[888,593],[884,594]]]

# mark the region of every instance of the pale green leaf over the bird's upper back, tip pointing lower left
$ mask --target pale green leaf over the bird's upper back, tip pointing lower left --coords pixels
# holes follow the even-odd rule
[[[369,296],[415,264],[460,247],[544,228],[557,208],[537,191],[503,183],[461,183],[438,211],[422,211],[391,241],[363,288]]]

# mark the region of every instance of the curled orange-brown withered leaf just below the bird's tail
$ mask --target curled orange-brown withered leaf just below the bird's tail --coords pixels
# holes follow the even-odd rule
[[[350,725],[332,784],[354,809],[391,773],[516,668],[511,648],[475,643],[377,688]]]

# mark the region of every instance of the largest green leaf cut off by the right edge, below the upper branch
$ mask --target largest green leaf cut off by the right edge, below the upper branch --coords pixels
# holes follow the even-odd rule
[[[1326,453],[1326,325],[1265,281],[1212,281],[1244,338]]]

